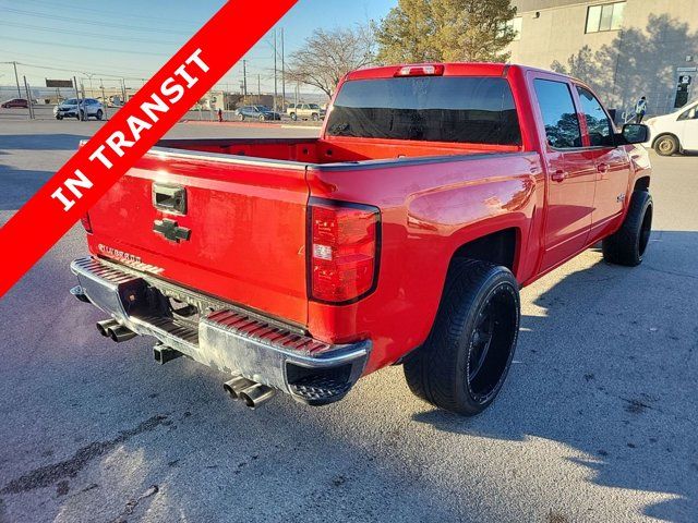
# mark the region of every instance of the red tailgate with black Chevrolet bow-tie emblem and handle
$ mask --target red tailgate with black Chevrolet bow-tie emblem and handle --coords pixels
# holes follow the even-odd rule
[[[156,208],[168,204],[163,188],[184,190],[183,212]],[[154,149],[91,209],[88,242],[99,256],[304,326],[308,197],[302,163]]]

